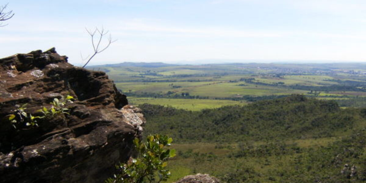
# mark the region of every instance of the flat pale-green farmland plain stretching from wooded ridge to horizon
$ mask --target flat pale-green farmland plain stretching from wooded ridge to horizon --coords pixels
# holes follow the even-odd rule
[[[121,63],[94,66],[91,69],[107,72],[119,90],[128,97],[134,97],[130,100],[131,104],[137,105],[148,102],[199,110],[229,104],[228,100],[243,104],[303,94],[337,100],[344,107],[352,107],[347,100],[357,97],[358,103],[354,107],[366,106],[365,64],[234,63],[179,66]]]

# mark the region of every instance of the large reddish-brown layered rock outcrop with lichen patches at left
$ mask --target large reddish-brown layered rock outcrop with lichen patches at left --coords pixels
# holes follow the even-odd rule
[[[70,115],[17,129],[8,120],[16,104],[37,116],[66,95],[76,99]],[[104,72],[74,67],[54,48],[0,59],[0,182],[103,182],[145,123],[127,104]]]

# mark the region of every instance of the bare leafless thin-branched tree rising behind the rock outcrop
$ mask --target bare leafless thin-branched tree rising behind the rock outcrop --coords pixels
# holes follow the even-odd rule
[[[89,57],[89,56],[87,56],[85,59],[83,59],[83,57],[81,56],[81,58],[83,59],[83,60],[86,60],[88,57],[89,57],[89,59],[88,59],[88,61],[84,64],[84,66],[83,66],[83,68],[89,63],[89,61],[95,56],[95,55],[97,55],[97,53],[100,53],[100,52],[102,52],[102,51],[104,51],[105,49],[107,49],[108,47],[109,47],[109,45],[111,45],[112,44],[112,42],[115,42],[115,41],[117,41],[117,40],[112,40],[112,36],[111,36],[111,34],[109,34],[109,37],[108,37],[108,40],[107,40],[107,44],[103,47],[103,48],[101,48],[100,46],[100,43],[101,43],[101,41],[102,41],[102,39],[103,39],[103,37],[105,36],[105,35],[107,35],[108,34],[108,30],[107,31],[105,31],[104,29],[103,29],[103,27],[102,27],[102,29],[101,30],[99,30],[98,29],[98,27],[96,27],[95,29],[94,29],[94,31],[92,31],[92,30],[88,30],[88,29],[86,29],[85,28],[85,30],[88,32],[88,34],[90,35],[90,37],[91,37],[91,45],[93,45],[93,51],[94,51],[94,53],[93,53],[93,55],[91,55],[91,57]],[[97,38],[96,38],[97,37]]]

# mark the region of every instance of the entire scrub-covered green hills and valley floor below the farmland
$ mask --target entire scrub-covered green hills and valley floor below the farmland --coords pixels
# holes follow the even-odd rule
[[[173,175],[210,173],[228,183],[366,181],[366,109],[301,95],[202,111],[139,107],[145,135],[173,137]]]

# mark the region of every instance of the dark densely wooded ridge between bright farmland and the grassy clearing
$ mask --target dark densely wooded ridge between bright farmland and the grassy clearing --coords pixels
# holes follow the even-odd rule
[[[345,133],[365,120],[361,109],[340,109],[334,101],[294,95],[202,111],[139,105],[147,133],[167,134],[179,142],[239,142],[321,138]]]

